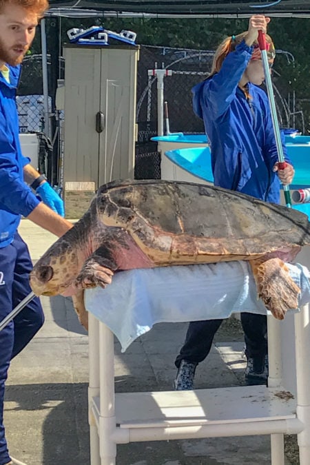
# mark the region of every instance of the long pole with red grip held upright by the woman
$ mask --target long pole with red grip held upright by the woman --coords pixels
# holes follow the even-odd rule
[[[281,136],[280,136],[280,128],[279,128],[278,116],[276,112],[276,103],[274,99],[273,87],[272,87],[270,70],[269,70],[266,37],[265,37],[265,33],[262,31],[258,31],[258,44],[260,46],[260,53],[262,54],[262,64],[264,65],[265,81],[266,81],[269,105],[270,105],[270,110],[271,110],[273,132],[276,138],[276,147],[278,151],[279,169],[284,169],[286,166],[286,163],[285,163],[285,157],[283,154],[283,147],[282,147]],[[284,185],[283,190],[285,194],[285,203],[287,204],[287,207],[291,207],[291,195],[289,194],[289,186]]]

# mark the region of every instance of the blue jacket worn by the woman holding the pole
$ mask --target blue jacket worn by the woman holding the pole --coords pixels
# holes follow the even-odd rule
[[[278,161],[267,94],[249,83],[250,99],[238,87],[253,48],[245,41],[227,55],[217,74],[193,87],[194,112],[211,145],[214,185],[280,203]],[[282,139],[285,161],[287,157]]]

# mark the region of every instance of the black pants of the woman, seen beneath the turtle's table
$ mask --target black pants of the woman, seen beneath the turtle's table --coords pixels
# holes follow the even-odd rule
[[[267,354],[267,316],[257,313],[241,313],[241,324],[245,331],[245,353],[247,357]],[[181,360],[202,362],[211,350],[214,335],[223,320],[203,320],[189,323],[185,343],[180,349],[175,364]]]

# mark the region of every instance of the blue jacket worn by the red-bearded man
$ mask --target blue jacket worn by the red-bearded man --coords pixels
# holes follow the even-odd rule
[[[28,216],[39,200],[23,181],[23,167],[30,163],[21,154],[16,90],[20,66],[10,69],[10,84],[0,72],[0,248],[12,242],[21,215]]]

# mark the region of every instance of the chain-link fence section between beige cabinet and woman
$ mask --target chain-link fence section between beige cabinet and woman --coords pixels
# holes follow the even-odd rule
[[[213,52],[142,46],[138,62],[137,122],[135,176],[161,178],[161,154],[151,138],[158,135],[157,77],[149,71],[172,71],[163,79],[164,100],[167,101],[169,130],[193,134],[203,132],[203,123],[192,111],[192,87],[207,77]]]

